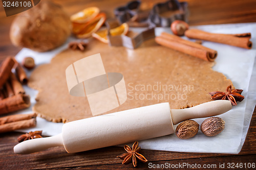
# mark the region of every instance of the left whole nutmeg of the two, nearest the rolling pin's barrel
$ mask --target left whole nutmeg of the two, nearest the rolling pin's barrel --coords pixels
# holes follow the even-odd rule
[[[185,120],[176,128],[176,135],[181,139],[194,137],[199,130],[199,124],[194,120]]]

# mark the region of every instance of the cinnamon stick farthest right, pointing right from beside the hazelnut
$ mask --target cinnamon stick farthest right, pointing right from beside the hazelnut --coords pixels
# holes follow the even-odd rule
[[[187,36],[188,38],[218,42],[247,49],[250,49],[252,47],[252,42],[250,41],[251,33],[214,34],[197,29],[189,29],[185,32],[185,36]]]

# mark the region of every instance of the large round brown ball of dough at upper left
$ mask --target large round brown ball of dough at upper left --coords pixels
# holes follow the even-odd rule
[[[14,19],[10,38],[15,46],[45,52],[63,44],[70,33],[70,17],[61,6],[41,1]]]

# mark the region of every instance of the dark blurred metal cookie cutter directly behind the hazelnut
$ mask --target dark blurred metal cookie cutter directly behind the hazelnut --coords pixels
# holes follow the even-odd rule
[[[156,27],[170,27],[170,24],[177,19],[187,22],[187,17],[187,3],[170,0],[165,3],[156,4],[148,16],[148,22]]]

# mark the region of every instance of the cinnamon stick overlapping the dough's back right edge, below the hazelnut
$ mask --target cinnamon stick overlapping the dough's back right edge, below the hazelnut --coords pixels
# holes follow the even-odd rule
[[[160,36],[156,37],[155,40],[160,45],[201,58],[206,61],[214,61],[217,57],[217,51],[198,43],[184,40],[176,35],[163,32]]]

